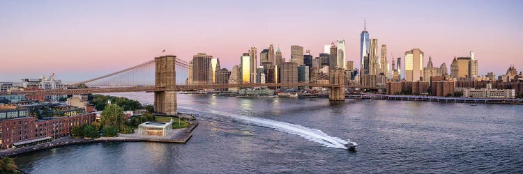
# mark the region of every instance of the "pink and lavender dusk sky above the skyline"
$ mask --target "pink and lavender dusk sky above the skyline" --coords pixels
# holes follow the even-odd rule
[[[0,1],[0,81],[52,72],[82,81],[164,54],[190,61],[198,52],[230,70],[250,47],[259,54],[273,43],[288,61],[291,45],[316,57],[340,39],[347,61],[360,65],[364,19],[370,38],[387,45],[389,62],[420,48],[424,66],[432,56],[434,66],[446,63],[450,70],[454,56],[473,51],[480,75],[499,75],[510,65],[523,70],[522,9],[517,0],[7,0]]]

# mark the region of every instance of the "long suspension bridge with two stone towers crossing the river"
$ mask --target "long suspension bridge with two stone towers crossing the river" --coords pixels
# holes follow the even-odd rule
[[[185,78],[177,80],[176,74],[188,74],[188,70],[204,72],[206,70],[196,70],[190,63],[183,61],[176,56],[160,56],[146,63],[126,68],[101,77],[79,81],[69,84],[66,88],[50,90],[21,90],[1,92],[0,95],[84,95],[93,93],[121,93],[121,92],[151,92],[154,93],[154,109],[156,113],[163,115],[176,115],[176,93],[187,90],[215,89],[215,88],[254,88],[254,87],[321,87],[329,88],[329,100],[345,100],[344,88],[369,88],[364,86],[354,86],[344,84],[344,70],[330,70],[329,74],[322,74],[318,77],[300,83],[242,83],[240,79],[231,78],[229,84],[193,84],[185,83]],[[143,74],[151,72],[151,77],[144,77]],[[207,72],[205,72],[207,73]],[[221,74],[216,74],[220,76]],[[328,83],[317,83],[318,79],[328,79]],[[179,85],[183,84],[183,85]]]

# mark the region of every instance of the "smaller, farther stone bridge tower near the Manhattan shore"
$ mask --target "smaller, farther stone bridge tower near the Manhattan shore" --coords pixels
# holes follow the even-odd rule
[[[332,87],[330,93],[328,94],[328,100],[331,101],[344,101],[345,100],[345,91],[344,91],[344,70],[342,68],[336,68],[329,72],[329,83],[340,85],[340,87]]]

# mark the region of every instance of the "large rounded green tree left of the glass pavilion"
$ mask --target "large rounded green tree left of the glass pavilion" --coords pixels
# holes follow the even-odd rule
[[[123,115],[123,109],[116,104],[109,104],[105,106],[101,116],[100,123],[103,127],[111,126],[115,128],[121,128],[123,122],[126,120],[126,116]]]

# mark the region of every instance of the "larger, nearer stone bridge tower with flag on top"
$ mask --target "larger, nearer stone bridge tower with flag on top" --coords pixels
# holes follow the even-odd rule
[[[176,104],[176,56],[160,56],[156,61],[155,86],[165,90],[154,92],[154,111],[162,115],[178,114]]]

